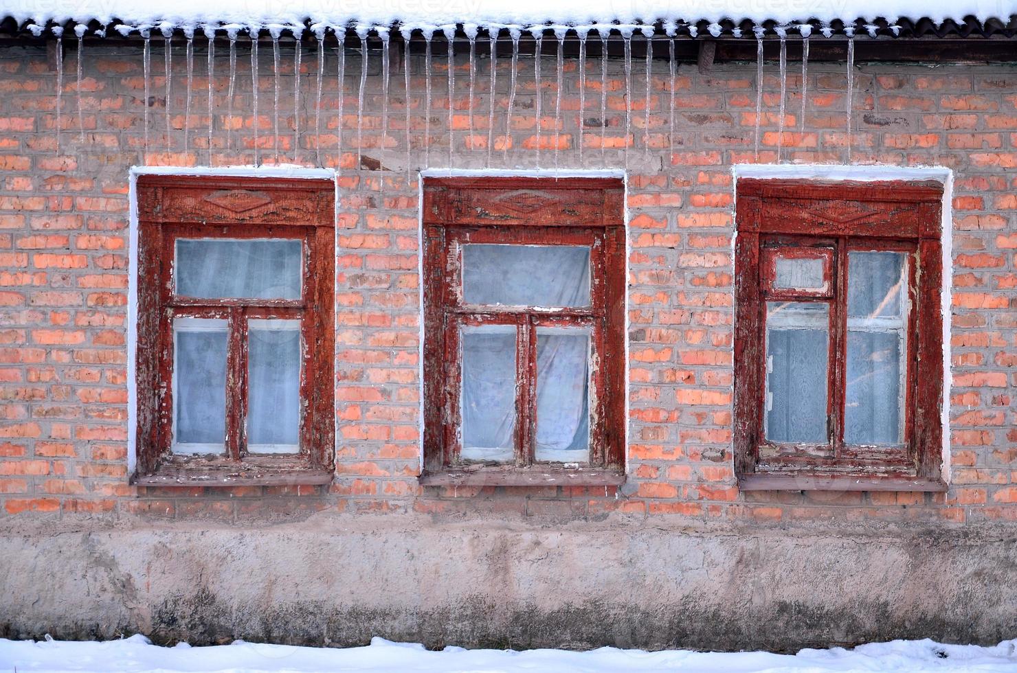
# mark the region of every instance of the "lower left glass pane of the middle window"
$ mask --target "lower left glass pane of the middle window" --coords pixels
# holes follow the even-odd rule
[[[464,461],[515,461],[516,326],[463,327]]]

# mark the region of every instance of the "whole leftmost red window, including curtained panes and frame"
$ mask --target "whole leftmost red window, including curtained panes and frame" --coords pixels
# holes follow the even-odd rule
[[[334,193],[138,179],[135,483],[331,481]]]

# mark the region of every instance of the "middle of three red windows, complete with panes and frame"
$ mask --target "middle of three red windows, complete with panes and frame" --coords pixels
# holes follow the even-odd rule
[[[619,180],[424,185],[426,484],[618,484]]]

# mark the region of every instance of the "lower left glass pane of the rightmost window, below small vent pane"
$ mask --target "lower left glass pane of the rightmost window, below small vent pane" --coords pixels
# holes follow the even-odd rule
[[[827,443],[830,307],[767,302],[766,438]]]

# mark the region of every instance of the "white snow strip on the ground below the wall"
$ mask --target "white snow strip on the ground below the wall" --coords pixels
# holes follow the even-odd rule
[[[160,648],[143,635],[105,643],[0,639],[0,671],[121,673],[161,671],[501,671],[607,673],[608,671],[1017,671],[1017,639],[992,648],[894,640],[853,650],[802,650],[796,655],[766,652],[710,653],[687,650],[644,652],[601,648],[563,650],[464,650],[429,652],[423,646],[373,638],[366,648],[345,650],[258,645]]]

